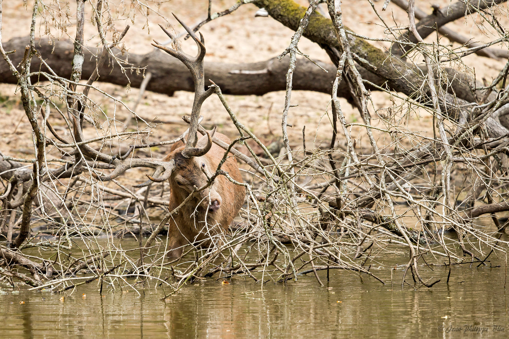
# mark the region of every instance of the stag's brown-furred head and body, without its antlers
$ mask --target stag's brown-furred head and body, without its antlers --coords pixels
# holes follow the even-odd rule
[[[230,144],[230,139],[221,134],[215,133],[218,139]],[[197,146],[203,147],[207,143],[207,137],[202,137]],[[178,142],[173,145],[171,152],[164,158],[164,161],[175,161],[175,169],[169,178],[171,195],[169,198],[169,210],[178,207],[193,191],[194,187],[200,188],[207,183],[207,177],[201,170],[204,170],[210,177],[215,173],[221,161],[224,150],[212,144],[210,150],[202,157],[186,159],[182,157],[184,144]],[[231,155],[231,153],[230,153]],[[242,182],[242,177],[237,165],[237,160],[231,156],[224,162],[221,169],[228,172],[236,181]],[[181,185],[177,182],[180,182]],[[173,219],[169,220],[169,253],[168,256],[178,258],[182,254],[184,245],[207,239],[224,232],[232,222],[233,218],[244,203],[245,189],[228,180],[224,175],[218,175],[211,187],[195,193],[186,205],[184,205]],[[219,206],[218,206],[219,204]],[[206,213],[208,210],[208,213]],[[205,215],[207,214],[207,227]],[[202,246],[210,242],[201,243]]]

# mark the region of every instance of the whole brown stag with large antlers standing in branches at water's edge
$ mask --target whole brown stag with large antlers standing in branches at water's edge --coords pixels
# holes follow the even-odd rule
[[[207,90],[205,89],[203,71],[203,59],[206,53],[205,40],[201,33],[200,39],[198,39],[184,22],[175,14],[174,16],[196,42],[198,54],[191,56],[184,53],[176,37],[161,25],[160,27],[172,39],[176,49],[168,48],[155,40],[155,44],[152,45],[181,60],[191,72],[194,80],[194,102],[190,118],[184,117],[184,120],[189,123],[189,129],[179,138],[172,141],[131,146],[126,154],[120,158],[105,155],[86,143],[79,144],[78,147],[83,155],[102,162],[108,162],[106,168],[109,168],[110,165],[115,166],[115,170],[109,175],[99,176],[92,172],[92,175],[100,181],[115,179],[127,169],[133,167],[155,169],[153,176],[147,174],[148,181],[134,187],[145,187],[153,182],[169,180],[171,196],[168,208],[172,213],[167,215],[170,239],[168,256],[178,258],[182,255],[183,247],[186,244],[192,243],[207,246],[216,235],[228,229],[228,226],[242,206],[245,196],[244,187],[234,183],[242,182],[237,160],[234,156],[241,159],[247,157],[242,157],[243,155],[231,146],[223,147],[228,148],[230,151],[228,156],[225,156],[225,152],[221,147],[212,144],[212,139],[214,139],[214,143],[222,146],[231,145],[231,140],[223,134],[215,133],[215,128],[210,133],[199,125],[203,118],[200,116],[202,104],[215,90],[214,86]],[[76,140],[82,142],[84,137],[76,117],[73,117],[73,126]],[[57,137],[58,133],[54,131],[49,123],[48,127]],[[203,135],[200,140],[197,138],[197,131],[199,129]],[[184,142],[186,135],[187,140]],[[58,136],[58,138],[67,143],[71,142],[71,140],[64,139],[61,136]],[[171,152],[162,160],[127,159],[134,148],[168,143],[173,143]],[[219,174],[227,174],[228,177]],[[158,231],[159,228],[155,233]],[[153,236],[155,235],[153,234]],[[153,236],[147,240],[145,246],[151,243]]]

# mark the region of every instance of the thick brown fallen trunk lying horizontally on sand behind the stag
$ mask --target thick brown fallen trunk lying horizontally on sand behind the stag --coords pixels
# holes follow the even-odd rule
[[[29,37],[13,38],[4,44],[6,50],[16,50],[10,54],[14,65],[18,65],[23,57],[23,50],[29,44]],[[38,40],[36,42],[38,51],[46,61],[49,67],[63,78],[69,78],[72,71],[73,44],[67,41],[53,41],[48,44],[47,41]],[[92,75],[96,68],[96,56],[89,52],[93,48],[84,48],[85,52],[82,77],[87,78]],[[112,49],[114,53],[122,56],[120,50]],[[101,54],[99,51],[98,55]],[[148,54],[129,53],[129,63],[133,67],[145,68],[145,72],[152,73],[152,79],[147,84],[146,89],[172,96],[176,90],[194,91],[194,84],[189,70],[176,58],[155,50]],[[205,78],[211,79],[221,87],[223,94],[232,95],[264,95],[271,91],[286,89],[286,73],[290,58],[284,57],[281,61],[272,58],[267,61],[251,64],[222,64],[205,63]],[[34,56],[32,67],[39,69],[40,60]],[[336,67],[331,64],[318,64],[328,73],[321,70],[307,59],[301,59],[297,63],[293,77],[293,89],[313,90],[317,92],[330,94],[330,82],[334,80]],[[115,66],[115,67],[114,67]],[[47,71],[46,67],[41,67],[42,71]],[[372,74],[364,71],[363,77],[378,85],[383,81]],[[130,83],[131,87],[139,88],[143,81],[142,74],[123,74],[121,68],[114,63],[105,63],[99,73],[99,80],[117,85],[126,86]],[[45,80],[45,79],[40,79]],[[32,79],[36,83],[37,78]],[[0,82],[17,83],[17,79],[6,63],[0,63]],[[350,91],[345,82],[341,83],[338,89],[338,96],[350,98]]]

